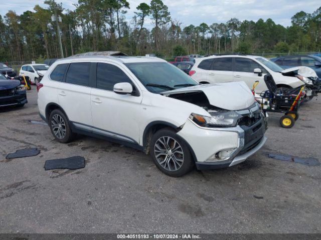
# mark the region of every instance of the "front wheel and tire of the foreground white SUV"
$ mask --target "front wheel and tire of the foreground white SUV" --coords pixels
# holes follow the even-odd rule
[[[188,145],[172,129],[158,130],[152,136],[150,155],[157,168],[169,176],[183,176],[194,167]]]

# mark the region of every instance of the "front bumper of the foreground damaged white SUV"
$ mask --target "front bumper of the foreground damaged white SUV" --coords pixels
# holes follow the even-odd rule
[[[250,126],[209,128],[188,119],[177,133],[189,144],[198,169],[217,169],[238,164],[258,151],[265,143],[265,118]],[[233,149],[224,159],[213,159],[220,151]]]

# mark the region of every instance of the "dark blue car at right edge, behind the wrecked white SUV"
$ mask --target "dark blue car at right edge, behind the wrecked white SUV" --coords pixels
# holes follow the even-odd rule
[[[318,78],[321,78],[321,57],[316,55],[291,55],[291,56],[279,56],[271,58],[283,68],[289,68],[293,66],[308,66],[312,68]]]

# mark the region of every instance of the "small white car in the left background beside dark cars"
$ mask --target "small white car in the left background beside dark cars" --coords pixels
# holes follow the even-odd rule
[[[29,76],[30,81],[36,84],[41,81],[48,68],[47,64],[26,64],[21,66],[19,75]]]

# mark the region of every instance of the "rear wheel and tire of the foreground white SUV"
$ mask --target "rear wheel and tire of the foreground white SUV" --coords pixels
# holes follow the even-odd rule
[[[75,136],[71,131],[67,116],[60,109],[55,109],[50,113],[49,126],[51,133],[59,142],[70,142]]]

